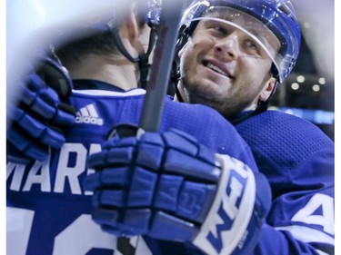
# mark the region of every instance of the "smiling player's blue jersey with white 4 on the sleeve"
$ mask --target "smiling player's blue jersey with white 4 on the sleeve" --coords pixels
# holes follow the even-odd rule
[[[277,111],[236,129],[273,195],[253,254],[334,254],[334,142],[316,125]]]

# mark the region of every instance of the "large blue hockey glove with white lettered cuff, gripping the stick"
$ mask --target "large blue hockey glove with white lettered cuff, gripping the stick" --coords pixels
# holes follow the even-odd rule
[[[88,158],[93,220],[118,237],[192,242],[207,254],[247,254],[270,207],[268,182],[177,130],[117,136]],[[258,187],[259,186],[259,187]]]

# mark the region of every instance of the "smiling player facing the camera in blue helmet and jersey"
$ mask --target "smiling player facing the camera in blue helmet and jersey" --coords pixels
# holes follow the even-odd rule
[[[194,1],[183,25],[177,98],[235,123],[270,181],[273,203],[252,254],[334,254],[334,142],[312,123],[267,111],[299,52],[292,4]]]

